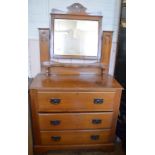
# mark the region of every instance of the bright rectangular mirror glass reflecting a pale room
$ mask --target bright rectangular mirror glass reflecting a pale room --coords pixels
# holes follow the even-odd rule
[[[98,21],[54,20],[54,55],[93,56],[98,53]]]

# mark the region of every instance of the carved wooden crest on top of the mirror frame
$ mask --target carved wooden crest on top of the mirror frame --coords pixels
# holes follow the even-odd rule
[[[74,3],[71,6],[67,7],[69,13],[74,13],[74,14],[87,14],[85,8],[82,4],[80,3]]]

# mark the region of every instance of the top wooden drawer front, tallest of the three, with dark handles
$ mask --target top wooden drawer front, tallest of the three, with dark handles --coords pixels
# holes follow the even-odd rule
[[[39,92],[38,111],[112,111],[115,92]]]

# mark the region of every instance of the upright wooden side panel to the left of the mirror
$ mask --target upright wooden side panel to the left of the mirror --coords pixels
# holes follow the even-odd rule
[[[49,61],[49,28],[39,28],[40,63]]]

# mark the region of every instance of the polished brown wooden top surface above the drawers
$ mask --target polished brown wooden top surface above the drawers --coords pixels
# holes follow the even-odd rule
[[[113,91],[122,86],[110,75],[51,75],[38,74],[30,89],[53,91]]]

